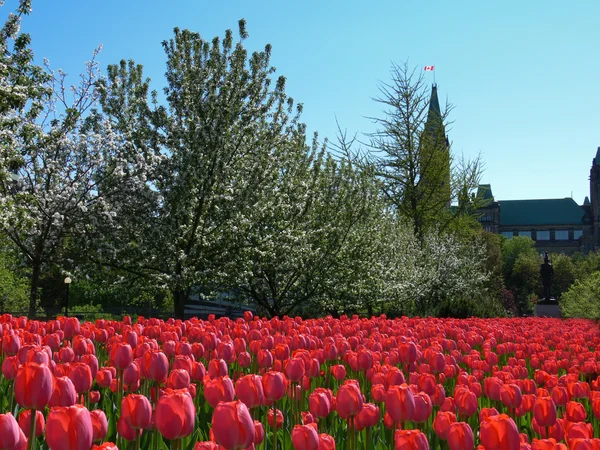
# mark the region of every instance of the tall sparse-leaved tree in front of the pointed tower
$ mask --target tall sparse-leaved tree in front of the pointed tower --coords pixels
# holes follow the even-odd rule
[[[371,135],[369,159],[386,198],[422,241],[426,231],[445,230],[482,206],[471,195],[482,167],[479,158],[453,160],[445,133],[451,107],[442,111],[437,96],[428,99],[425,79],[415,70],[394,64],[392,81],[380,86],[375,100],[386,109],[373,119],[381,128]],[[449,208],[451,203],[457,206]]]

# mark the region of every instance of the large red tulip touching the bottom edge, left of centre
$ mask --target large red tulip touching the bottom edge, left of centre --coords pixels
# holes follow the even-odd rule
[[[227,450],[245,449],[254,443],[254,421],[240,401],[217,405],[212,418],[215,440]]]

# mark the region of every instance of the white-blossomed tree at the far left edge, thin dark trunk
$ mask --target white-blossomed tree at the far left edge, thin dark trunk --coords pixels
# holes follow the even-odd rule
[[[114,217],[107,200],[137,181],[136,160],[111,124],[84,120],[96,100],[97,52],[70,88],[64,73],[33,65],[29,37],[18,31],[29,3],[20,3],[2,31],[0,226],[30,269],[34,317],[44,268],[72,269],[66,243]]]

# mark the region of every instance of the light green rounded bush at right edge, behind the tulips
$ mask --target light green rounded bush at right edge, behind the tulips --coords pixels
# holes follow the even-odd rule
[[[563,317],[600,319],[600,272],[575,281],[560,301]]]

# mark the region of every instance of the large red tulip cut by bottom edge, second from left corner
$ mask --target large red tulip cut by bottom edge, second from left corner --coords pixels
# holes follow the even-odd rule
[[[89,450],[92,446],[92,419],[83,405],[50,409],[46,421],[46,442],[52,450]]]

